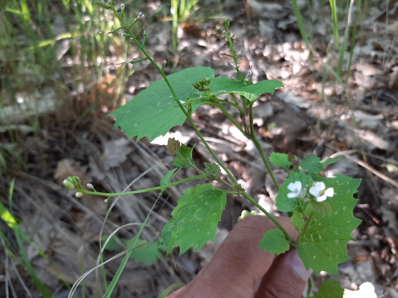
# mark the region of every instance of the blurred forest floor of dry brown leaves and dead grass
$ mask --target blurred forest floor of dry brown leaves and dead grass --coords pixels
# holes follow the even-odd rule
[[[340,72],[336,72],[339,53],[336,44],[331,42],[330,24],[325,22],[330,19],[328,4],[312,3],[311,11],[304,2],[300,6],[304,19],[311,20],[310,24],[305,22],[311,32],[309,50],[302,41],[289,1],[229,0],[223,2],[222,9],[221,2],[206,3],[199,2],[193,14],[197,19],[206,12],[215,17],[181,22],[177,50],[172,50],[171,22],[157,17],[159,6],[164,4],[156,1],[142,4],[148,52],[159,65],[167,61],[167,74],[209,66],[216,76],[231,77],[234,70],[227,65],[228,57],[219,55],[225,50],[221,31],[224,17],[228,17],[237,50],[244,50],[240,68],[251,67],[254,83],[278,79],[285,84],[274,95],[261,95],[254,108],[255,127],[265,152],[268,155],[272,151],[292,152],[299,159],[309,154],[321,159],[342,156],[325,174],[339,173],[362,179],[355,194],[359,201],[354,209],[355,217],[362,223],[352,235],[357,241],[348,244],[350,260],[339,265],[339,275],[314,276],[315,285],[332,277],[341,281],[347,297],[367,297],[371,291],[364,290],[365,287],[359,290],[359,287],[368,282],[377,297],[398,297],[398,2],[373,3],[363,19],[359,18],[358,10],[355,11],[361,26],[353,42],[350,40],[346,45]],[[341,19],[342,32],[346,19]],[[349,32],[352,34],[353,27]],[[189,146],[196,143],[193,155],[197,165],[212,161],[188,124],[173,128],[151,143],[146,138],[138,143],[134,138],[128,141],[123,132],[113,129],[113,119],[105,116],[114,108],[115,99],[117,105],[123,104],[160,79],[153,66],[146,62],[134,64],[134,68],[119,64],[140,56],[130,51],[127,58],[123,57],[124,46],[116,45],[119,46],[113,45],[109,56],[104,58],[104,70],[92,75],[83,86],[77,81],[65,81],[67,89],[62,104],[56,109],[47,104],[37,112],[34,130],[29,122],[32,115],[27,116],[21,110],[16,113],[4,108],[0,119],[0,143],[7,149],[6,154],[3,153],[6,166],[0,176],[0,202],[13,211],[31,240],[25,243],[26,257],[37,277],[59,298],[69,292],[65,284],[74,284],[84,272],[95,267],[101,227],[113,202],[113,199],[104,202],[103,197],[92,195],[76,198],[73,192],[62,187],[64,178],[78,175],[83,185],[91,183],[97,191],[121,192],[140,174],[160,164],[130,185],[132,190],[157,186],[169,169],[165,164],[171,164],[174,159],[164,146],[169,137]],[[71,45],[66,45],[64,51],[59,47],[64,77],[73,77],[70,61],[76,62],[75,50]],[[352,62],[347,68],[350,53]],[[3,73],[6,73],[5,66]],[[127,73],[131,76],[127,77]],[[7,92],[4,83],[0,88],[4,95]],[[26,92],[18,94],[27,96]],[[43,94],[51,97],[54,93],[46,89],[34,90],[32,94],[39,94],[43,99]],[[238,182],[267,211],[279,214],[274,205],[275,190],[253,144],[214,107],[199,108],[193,118]],[[153,121],[156,123],[156,119]],[[283,181],[285,176],[278,170],[276,173]],[[179,173],[179,178],[193,175],[193,170],[187,169]],[[7,198],[13,179],[11,203]],[[178,185],[164,193],[148,221],[151,228],[144,228],[143,239],[156,243],[177,199],[189,186],[193,184]],[[103,234],[109,235],[118,227],[127,226],[118,231],[118,241],[105,250],[105,259],[121,252],[126,240],[135,236],[156,198],[156,193],[145,193],[117,201]],[[137,254],[127,264],[113,296],[157,297],[170,284],[189,282],[210,260],[245,209],[253,206],[240,197],[228,197],[216,242],[206,244],[199,252],[189,250],[179,256],[176,250],[166,256],[154,250],[152,255],[141,258]],[[18,251],[13,230],[4,222],[0,227],[11,247]],[[18,265],[16,258],[6,250],[0,252],[3,277],[0,293],[5,293],[6,284],[10,283],[16,297],[28,297],[27,293],[39,297],[27,271]],[[108,281],[120,262],[121,258],[106,264]],[[97,288],[96,275],[91,273],[79,290],[86,289],[88,296],[94,297]]]

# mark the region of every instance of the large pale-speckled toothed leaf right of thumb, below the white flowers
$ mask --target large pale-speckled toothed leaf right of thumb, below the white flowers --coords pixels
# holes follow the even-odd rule
[[[349,240],[355,240],[351,237],[351,232],[361,223],[361,220],[353,216],[353,208],[357,203],[353,194],[361,180],[342,175],[339,175],[338,180],[345,181],[341,183],[336,178],[318,176],[316,180],[323,181],[326,188],[334,189],[334,196],[327,199],[332,213],[314,213],[308,229],[299,239],[297,252],[306,269],[312,268],[317,274],[320,271],[337,274],[337,265],[349,259],[346,246]],[[295,212],[291,219],[299,232],[306,224],[303,217],[308,218],[312,212],[312,205],[306,206],[303,213]]]

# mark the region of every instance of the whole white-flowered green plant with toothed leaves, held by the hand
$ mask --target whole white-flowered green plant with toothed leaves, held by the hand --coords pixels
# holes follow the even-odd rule
[[[121,23],[121,27],[113,29],[109,34],[121,31],[124,37],[128,37],[125,42],[141,52],[143,58],[126,63],[147,61],[152,64],[154,71],[162,76],[162,79],[152,82],[147,89],[127,104],[111,112],[110,115],[116,119],[115,127],[120,126],[129,139],[137,136],[137,141],[142,137],[148,137],[149,141],[153,141],[156,137],[165,135],[174,126],[182,126],[187,121],[209,151],[213,161],[205,163],[205,168],[197,166],[192,158],[194,148],[187,147],[173,138],[169,139],[166,146],[167,153],[174,157],[173,168],[165,174],[158,187],[122,193],[103,193],[97,192],[92,184],[88,185],[90,190],[86,190],[77,176],[66,178],[63,185],[76,190],[77,197],[86,194],[116,197],[142,192],[158,192],[161,196],[167,188],[187,181],[199,178],[202,181],[203,178],[207,178],[209,182],[217,181],[222,188],[216,188],[210,183],[197,184],[187,188],[185,194],[178,199],[178,204],[171,213],[172,218],[165,224],[160,234],[159,244],[167,247],[167,253],[174,251],[176,247],[179,247],[180,254],[192,247],[196,251],[207,241],[214,241],[217,224],[225,208],[226,195],[233,194],[247,199],[277,226],[276,229],[264,231],[260,248],[277,254],[296,249],[306,269],[311,268],[318,274],[320,271],[337,274],[338,264],[349,259],[346,246],[349,240],[354,240],[351,232],[361,222],[353,216],[353,208],[357,203],[353,194],[357,191],[361,180],[343,175],[334,177],[320,175],[328,164],[338,159],[329,158],[321,161],[316,155],[302,159],[293,153],[275,152],[271,153],[269,158],[265,156],[254,128],[254,103],[261,94],[273,94],[276,88],[284,86],[283,83],[277,80],[252,82],[251,68],[242,70],[238,62],[244,52],[238,49],[235,36],[229,31],[228,19],[224,20],[225,30],[221,33],[227,50],[219,54],[230,58],[231,61],[227,64],[236,72],[233,77],[216,76],[213,69],[201,66],[166,75],[165,64],[159,66],[145,48],[146,31],[142,29],[142,36],[135,36],[131,31],[131,27],[139,24],[144,15],[140,13],[130,23],[122,14],[123,10],[128,8],[123,6],[118,12],[114,6],[115,2],[111,0],[109,5],[103,2],[96,3],[101,8],[113,12]],[[219,95],[222,95],[222,98],[219,98]],[[228,99],[225,99],[225,95]],[[219,108],[232,125],[253,142],[269,177],[278,190],[275,198],[276,207],[280,212],[291,215],[291,223],[298,232],[295,239],[292,239],[283,226],[242,188],[226,164],[211,149],[191,117],[202,105]],[[225,108],[226,106],[235,108],[239,118],[235,119]],[[154,119],[156,121],[153,121]],[[284,168],[289,174],[283,185],[278,184],[273,174],[275,167]],[[175,176],[180,168],[193,168],[198,175],[176,181]],[[225,174],[221,175],[221,171]],[[241,217],[251,214],[253,213],[250,211],[244,212]],[[137,243],[139,234],[140,232],[135,237],[133,245]],[[128,256],[129,253],[126,257]],[[119,268],[121,271],[127,259],[123,262]],[[117,282],[119,276],[118,271],[111,285]],[[78,282],[74,285],[72,294],[77,285]],[[111,291],[112,286],[109,286],[104,297],[110,297]]]

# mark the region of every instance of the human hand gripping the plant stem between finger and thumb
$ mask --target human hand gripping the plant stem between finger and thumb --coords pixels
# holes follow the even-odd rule
[[[289,217],[277,221],[294,239]],[[265,216],[239,221],[210,263],[187,285],[167,298],[300,298],[312,270],[307,271],[296,250],[271,255],[258,248],[266,230],[277,228]]]

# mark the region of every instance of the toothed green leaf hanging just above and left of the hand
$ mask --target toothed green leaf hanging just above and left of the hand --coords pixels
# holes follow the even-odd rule
[[[167,253],[176,246],[180,254],[191,246],[197,251],[207,241],[214,241],[226,194],[211,184],[197,184],[187,188],[177,203],[172,211],[173,218],[164,226],[159,240],[169,247]]]

